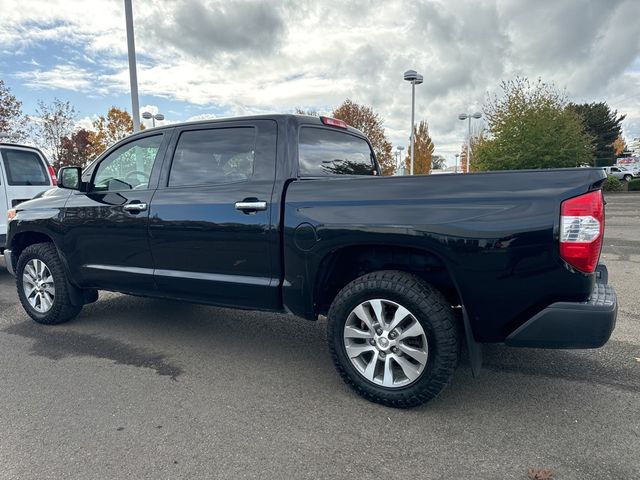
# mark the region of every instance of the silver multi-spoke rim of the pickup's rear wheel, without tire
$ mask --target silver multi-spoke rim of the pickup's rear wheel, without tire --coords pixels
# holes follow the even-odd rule
[[[344,326],[344,346],[355,369],[387,388],[414,383],[427,365],[424,328],[402,305],[373,299],[354,308]]]

